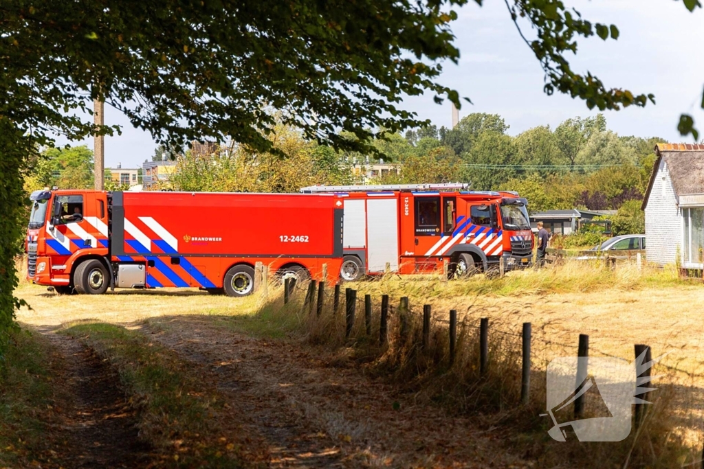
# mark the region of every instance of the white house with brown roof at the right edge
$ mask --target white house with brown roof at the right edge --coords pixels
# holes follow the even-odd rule
[[[643,198],[646,257],[655,264],[704,269],[704,145],[658,143]]]

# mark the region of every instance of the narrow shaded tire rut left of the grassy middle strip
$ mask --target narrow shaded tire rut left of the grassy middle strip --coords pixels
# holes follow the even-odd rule
[[[63,425],[57,435],[64,468],[142,468],[149,446],[138,439],[135,411],[116,371],[73,338],[42,330],[63,355]],[[65,454],[62,454],[65,452]]]

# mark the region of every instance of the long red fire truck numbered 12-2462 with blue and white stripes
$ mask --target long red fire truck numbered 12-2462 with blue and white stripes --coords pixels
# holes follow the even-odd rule
[[[238,297],[254,266],[337,283],[344,199],[332,194],[36,191],[27,277],[58,293],[194,287]]]

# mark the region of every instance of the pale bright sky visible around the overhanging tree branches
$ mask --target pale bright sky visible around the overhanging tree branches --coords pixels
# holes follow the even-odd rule
[[[681,113],[696,119],[704,135],[704,11],[689,13],[673,0],[565,0],[592,23],[615,24],[617,41],[598,37],[582,40],[573,70],[600,77],[607,87],[620,86],[634,94],[653,93],[657,105],[606,112],[608,127],[620,135],[660,136],[681,141],[677,122]],[[453,23],[460,49],[458,65],[448,63],[441,82],[472,99],[460,118],[469,113],[495,113],[510,125],[510,134],[569,117],[594,115],[581,100],[543,94],[543,72],[524,44],[501,0],[474,1],[461,8]],[[529,31],[527,31],[530,34]],[[451,125],[451,105],[436,105],[432,94],[407,98],[403,106],[438,126]],[[106,107],[106,124],[122,126],[122,135],[106,137],[106,167],[137,167],[151,160],[156,143],[134,129],[113,108]],[[691,137],[690,137],[691,140]],[[58,143],[65,143],[59,141]],[[92,139],[85,141],[92,148]],[[75,143],[74,143],[75,144]]]

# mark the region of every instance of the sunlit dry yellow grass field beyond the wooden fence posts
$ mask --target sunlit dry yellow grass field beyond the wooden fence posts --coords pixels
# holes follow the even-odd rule
[[[365,294],[372,295],[375,309],[381,295],[388,294],[392,304],[398,297],[408,296],[415,311],[421,311],[422,304],[431,304],[434,319],[439,320],[446,320],[448,311],[456,309],[460,318],[467,316],[469,324],[489,317],[496,328],[513,333],[520,333],[523,322],[531,322],[534,340],[550,342],[538,348],[551,354],[562,350],[572,353],[582,333],[589,335],[592,354],[631,359],[634,344],[647,344],[656,356],[669,352],[666,364],[704,375],[704,285],[680,281],[672,271],[637,271],[634,266],[609,271],[601,266],[570,264],[512,272],[497,279],[477,276],[442,283],[429,276],[387,276],[345,286],[358,290],[359,302]],[[270,292],[272,297],[280,296],[281,288],[272,287]],[[32,308],[18,311],[17,319],[31,326],[89,319],[126,324],[184,315],[246,318],[263,304],[256,295],[233,299],[195,289],[61,296],[25,282],[20,283],[17,295]]]

